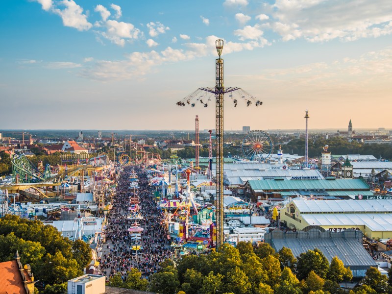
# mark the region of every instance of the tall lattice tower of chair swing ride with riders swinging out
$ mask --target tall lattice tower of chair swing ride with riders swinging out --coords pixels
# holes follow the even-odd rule
[[[223,40],[219,39],[215,42],[219,58],[215,60],[215,87],[214,88],[198,88],[190,95],[177,102],[178,106],[191,107],[196,106],[196,101],[200,102],[204,108],[208,106],[208,102],[215,98],[215,121],[216,121],[216,222],[217,222],[217,242],[216,247],[219,248],[224,241],[223,238],[223,96],[229,94],[229,97],[237,107],[238,101],[243,99],[246,106],[249,107],[253,102],[256,106],[263,105],[263,102],[251,96],[245,90],[238,87],[224,87],[223,84],[223,59],[221,58],[223,49]],[[204,101],[203,101],[203,99]]]

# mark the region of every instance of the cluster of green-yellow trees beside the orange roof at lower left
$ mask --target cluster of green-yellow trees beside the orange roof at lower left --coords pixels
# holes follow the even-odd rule
[[[23,264],[29,264],[35,280],[62,284],[83,274],[92,260],[83,241],[71,241],[51,225],[6,215],[0,219],[0,262],[12,260],[18,250]]]

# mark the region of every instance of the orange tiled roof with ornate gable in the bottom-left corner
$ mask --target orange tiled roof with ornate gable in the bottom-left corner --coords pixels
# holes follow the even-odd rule
[[[30,279],[25,270],[27,279]],[[0,263],[0,294],[26,294],[25,284],[22,281],[21,271],[16,260]],[[30,279],[31,281],[31,279]]]

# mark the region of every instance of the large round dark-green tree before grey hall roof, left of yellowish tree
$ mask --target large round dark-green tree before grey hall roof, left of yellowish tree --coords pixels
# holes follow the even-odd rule
[[[305,279],[311,270],[321,278],[325,278],[328,269],[328,259],[317,248],[301,253],[297,259],[297,278],[299,280]]]

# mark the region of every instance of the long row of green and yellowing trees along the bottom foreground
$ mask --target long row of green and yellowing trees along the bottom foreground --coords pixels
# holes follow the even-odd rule
[[[148,285],[135,269],[125,281],[115,275],[110,285],[161,294],[343,294],[347,292],[338,283],[352,279],[340,259],[334,257],[329,263],[317,248],[296,259],[289,248],[275,252],[268,244],[253,248],[245,242],[236,248],[224,244],[208,255],[188,255],[176,264],[166,260],[160,266]],[[350,294],[392,293],[389,283],[370,268],[364,285]]]

